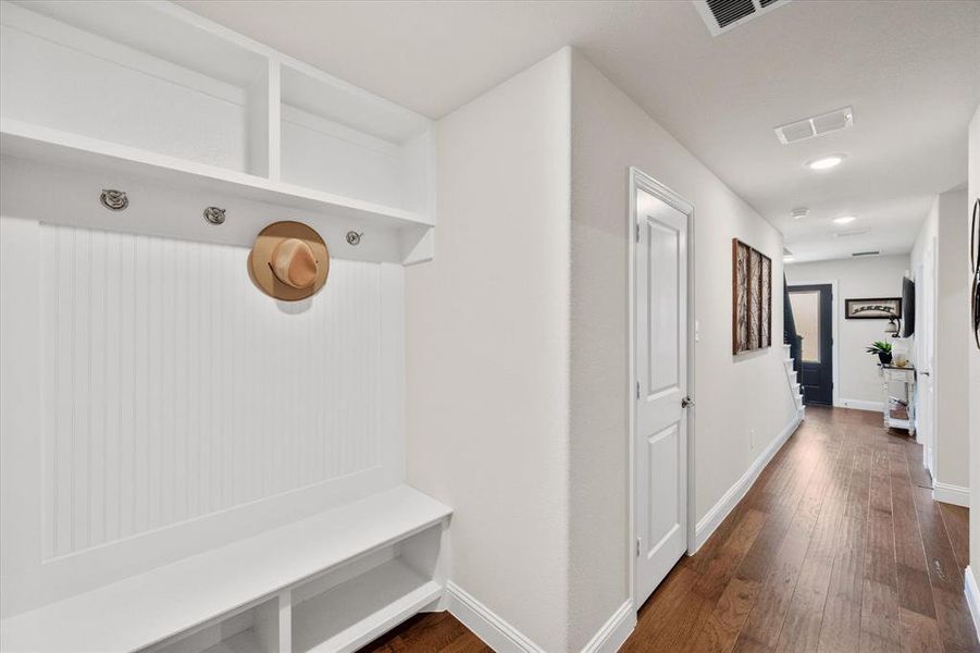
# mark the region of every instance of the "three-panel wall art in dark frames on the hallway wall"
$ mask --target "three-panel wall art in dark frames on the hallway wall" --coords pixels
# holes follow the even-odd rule
[[[772,346],[772,260],[732,238],[732,353]]]

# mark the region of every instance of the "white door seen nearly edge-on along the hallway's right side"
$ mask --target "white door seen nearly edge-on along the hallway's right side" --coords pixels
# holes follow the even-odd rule
[[[916,439],[922,444],[922,465],[935,476],[935,242],[916,270]]]

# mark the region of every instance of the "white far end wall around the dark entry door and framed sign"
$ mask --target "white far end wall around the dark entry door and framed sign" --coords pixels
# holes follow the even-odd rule
[[[909,271],[907,255],[880,256],[859,259],[834,259],[786,266],[790,285],[809,282],[838,284],[834,297],[834,320],[838,340],[835,362],[836,387],[834,401],[839,406],[860,409],[883,409],[883,390],[878,374],[878,358],[865,353],[865,347],[878,340],[886,340],[886,320],[845,319],[845,299],[860,297],[901,297],[902,278]]]

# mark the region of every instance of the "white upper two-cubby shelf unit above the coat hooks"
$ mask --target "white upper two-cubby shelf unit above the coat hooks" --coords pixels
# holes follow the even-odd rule
[[[384,251],[350,258],[432,257],[429,119],[170,2],[3,0],[0,76],[3,156],[34,172],[54,165],[77,173],[70,183],[102,172],[104,183],[210,189],[226,204],[300,211],[296,219],[327,238],[343,237],[348,222],[384,232],[375,238]],[[125,229],[247,242],[150,218]]]

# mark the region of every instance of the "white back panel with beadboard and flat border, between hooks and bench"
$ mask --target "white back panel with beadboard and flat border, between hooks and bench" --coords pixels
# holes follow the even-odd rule
[[[400,266],[285,304],[244,247],[8,217],[0,245],[0,616],[402,482]]]

